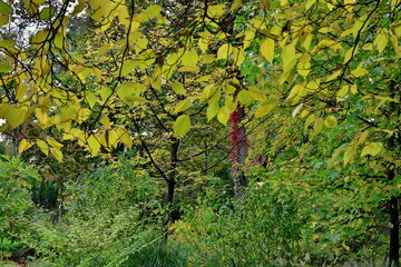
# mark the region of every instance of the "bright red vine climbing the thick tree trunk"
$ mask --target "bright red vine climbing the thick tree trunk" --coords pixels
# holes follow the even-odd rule
[[[241,105],[238,105],[229,116],[229,156],[236,200],[239,200],[244,196],[244,190],[248,184],[243,170],[248,151],[246,129],[245,126],[242,125],[244,118],[245,109]]]

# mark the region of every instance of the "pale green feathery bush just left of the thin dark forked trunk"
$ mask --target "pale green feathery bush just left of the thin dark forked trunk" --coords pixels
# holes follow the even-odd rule
[[[165,219],[158,185],[129,162],[94,168],[68,181],[65,195],[66,211],[58,221],[51,212],[33,217],[27,240],[40,256],[35,265],[133,266],[127,263],[174,255],[153,245],[163,237]]]

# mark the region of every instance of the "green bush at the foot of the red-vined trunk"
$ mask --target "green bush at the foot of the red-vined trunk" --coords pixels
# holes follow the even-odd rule
[[[294,266],[303,260],[300,241],[307,216],[299,214],[301,199],[291,188],[255,186],[225,212],[211,207],[209,198],[173,227],[175,238],[190,247],[189,266]]]

